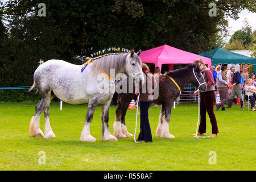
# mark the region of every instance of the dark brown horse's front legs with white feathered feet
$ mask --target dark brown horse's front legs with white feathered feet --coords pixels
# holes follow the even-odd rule
[[[171,102],[173,103],[173,102]],[[169,133],[169,122],[171,118],[172,104],[162,105],[162,110],[159,116],[158,128],[156,129],[156,136],[162,138],[175,138]]]

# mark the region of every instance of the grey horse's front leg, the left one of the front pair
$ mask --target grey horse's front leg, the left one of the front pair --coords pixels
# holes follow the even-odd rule
[[[96,142],[96,139],[90,135],[90,123],[93,119],[93,114],[97,106],[97,98],[91,98],[88,103],[88,110],[86,114],[84,128],[80,136],[82,142]]]

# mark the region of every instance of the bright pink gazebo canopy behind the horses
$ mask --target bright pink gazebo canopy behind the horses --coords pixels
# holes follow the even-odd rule
[[[204,60],[208,68],[212,64],[212,59],[195,53],[183,51],[168,45],[159,46],[141,52],[142,63],[153,63],[155,67],[162,68],[162,64],[169,64],[169,69],[173,70],[174,64],[192,64],[196,59]]]

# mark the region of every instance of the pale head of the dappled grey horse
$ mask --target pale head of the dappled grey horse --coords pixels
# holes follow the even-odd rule
[[[141,50],[135,53],[134,49],[131,50],[131,53],[127,56],[125,73],[127,75],[132,74],[135,78],[135,82],[139,84],[139,82],[144,83],[144,76],[141,68],[141,58],[139,55],[141,54]]]

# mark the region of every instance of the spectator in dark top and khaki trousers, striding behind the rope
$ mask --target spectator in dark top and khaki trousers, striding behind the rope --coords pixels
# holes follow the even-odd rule
[[[243,108],[243,98],[242,98],[242,85],[241,85],[241,73],[236,70],[236,67],[232,66],[231,71],[234,73],[232,77],[232,85],[230,88],[232,89],[232,93],[229,97],[229,105],[226,108],[231,108],[233,104],[234,97],[237,96],[240,98],[241,107]]]

